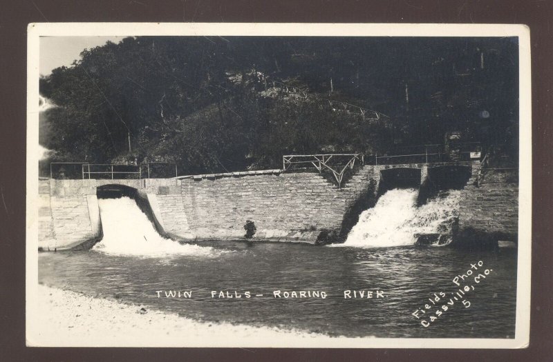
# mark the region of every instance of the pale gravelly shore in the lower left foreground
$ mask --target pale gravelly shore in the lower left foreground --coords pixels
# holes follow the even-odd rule
[[[279,346],[309,347],[341,339],[278,328],[207,323],[37,285],[35,308],[28,310],[28,345],[34,346]]]

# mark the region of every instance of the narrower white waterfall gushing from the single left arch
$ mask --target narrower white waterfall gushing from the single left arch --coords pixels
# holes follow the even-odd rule
[[[98,199],[104,237],[93,250],[135,257],[194,255],[217,257],[225,251],[209,246],[180,244],[162,237],[136,202],[129,197]]]

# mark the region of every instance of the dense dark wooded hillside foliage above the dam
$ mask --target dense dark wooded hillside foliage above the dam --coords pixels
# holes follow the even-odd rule
[[[129,37],[40,80],[57,105],[45,146],[55,161],[174,161],[180,174],[452,130],[516,150],[517,69],[509,38]]]

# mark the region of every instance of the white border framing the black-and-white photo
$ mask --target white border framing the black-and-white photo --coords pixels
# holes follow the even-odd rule
[[[163,336],[149,336],[120,347],[272,347],[272,348],[527,348],[530,331],[532,250],[532,102],[530,33],[518,24],[431,23],[30,23],[27,44],[27,164],[26,164],[26,339],[41,344],[37,313],[38,285],[38,161],[39,161],[39,37],[83,36],[288,36],[288,37],[518,37],[519,59],[519,194],[516,333],[514,339],[346,338],[324,342],[284,339],[205,339],[168,344]],[[83,341],[82,345],[90,346]],[[59,341],[52,347],[70,346]],[[104,345],[97,345],[103,347]]]

